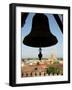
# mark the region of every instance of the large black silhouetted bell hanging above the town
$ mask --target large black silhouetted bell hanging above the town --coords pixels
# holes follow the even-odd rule
[[[35,14],[31,32],[24,38],[23,43],[27,46],[41,48],[55,45],[57,42],[57,38],[50,32],[47,16],[40,13]]]

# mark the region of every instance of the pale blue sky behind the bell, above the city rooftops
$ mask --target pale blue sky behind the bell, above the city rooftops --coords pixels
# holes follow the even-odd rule
[[[57,57],[63,57],[63,35],[62,32],[55,21],[52,14],[44,13],[49,20],[49,27],[51,30],[51,33],[56,36],[58,43],[56,45],[53,45],[51,47],[45,47],[42,48],[42,54],[43,58],[49,58],[52,54],[56,55]],[[29,13],[27,16],[27,19],[25,21],[24,26],[21,28],[21,36],[22,36],[22,58],[37,58],[39,54],[39,48],[29,47],[23,44],[23,39],[25,36],[27,36],[32,27],[32,18],[35,15],[35,13]],[[62,15],[59,15],[59,17],[62,19]]]

